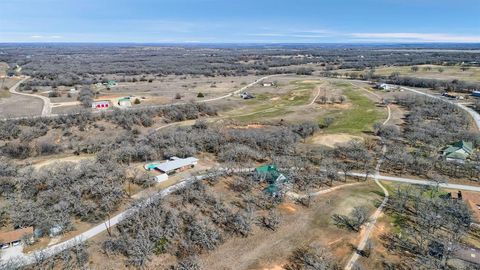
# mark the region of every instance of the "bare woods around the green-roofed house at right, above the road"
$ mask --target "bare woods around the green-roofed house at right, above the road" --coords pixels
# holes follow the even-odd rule
[[[480,136],[470,130],[471,122],[464,111],[439,99],[414,95],[397,97],[396,102],[408,110],[403,130],[394,126],[376,129],[389,142],[383,170],[437,180],[442,178],[438,174],[480,180],[478,154],[459,164],[447,162],[440,153],[445,146],[459,140],[471,141],[474,147],[480,145]]]

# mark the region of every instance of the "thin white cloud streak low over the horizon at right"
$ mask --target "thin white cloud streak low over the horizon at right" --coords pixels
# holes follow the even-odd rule
[[[350,36],[371,41],[480,42],[480,36],[441,33],[351,33]]]

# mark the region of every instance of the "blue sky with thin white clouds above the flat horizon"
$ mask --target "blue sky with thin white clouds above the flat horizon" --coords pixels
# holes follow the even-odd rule
[[[0,42],[480,43],[480,0],[0,0]]]

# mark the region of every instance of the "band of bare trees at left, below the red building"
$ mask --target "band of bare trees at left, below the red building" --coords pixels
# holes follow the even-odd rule
[[[75,148],[77,153],[93,153],[111,141],[111,138],[83,140],[73,135],[70,130],[78,129],[81,132],[89,129],[104,130],[105,127],[99,124],[103,121],[138,133],[136,127],[150,127],[154,124],[156,117],[161,117],[166,122],[178,122],[216,114],[216,109],[209,105],[190,103],[137,110],[115,110],[101,114],[82,110],[77,114],[58,117],[7,120],[0,122],[0,140],[6,142],[0,147],[0,155],[24,159],[30,156],[55,154],[66,148]],[[51,130],[61,130],[65,139],[70,138],[70,143],[58,145],[51,138],[41,138]]]

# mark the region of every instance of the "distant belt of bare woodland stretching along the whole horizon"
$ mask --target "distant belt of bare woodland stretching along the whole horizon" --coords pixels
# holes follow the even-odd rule
[[[296,72],[289,66],[321,64],[326,69],[384,65],[475,65],[478,53],[338,46],[166,47],[98,45],[3,46],[0,61],[23,67],[35,85],[88,85],[115,75],[243,76]],[[477,63],[478,65],[478,63]]]

